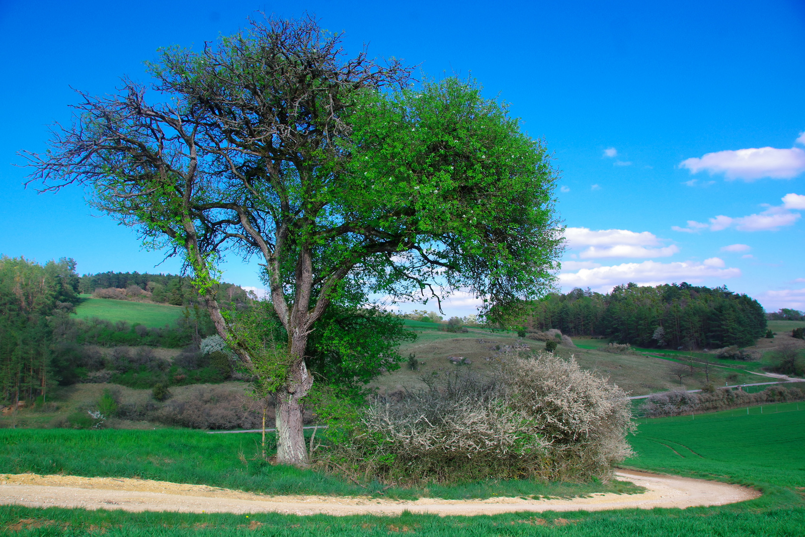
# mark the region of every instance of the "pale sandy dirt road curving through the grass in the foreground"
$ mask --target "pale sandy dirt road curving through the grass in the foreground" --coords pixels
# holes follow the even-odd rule
[[[716,481],[621,471],[621,479],[646,487],[643,494],[592,494],[589,498],[525,500],[416,501],[328,496],[266,496],[206,485],[112,477],[38,476],[0,474],[0,504],[31,507],[81,507],[129,511],[191,513],[287,514],[400,514],[403,510],[432,514],[497,514],[512,511],[608,510],[638,507],[720,506],[757,498],[760,494],[738,485]]]

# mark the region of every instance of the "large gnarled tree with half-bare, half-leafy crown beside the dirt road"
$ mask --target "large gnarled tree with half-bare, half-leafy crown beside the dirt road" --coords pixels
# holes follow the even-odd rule
[[[502,316],[543,293],[561,251],[550,155],[503,105],[456,79],[408,87],[398,60],[345,60],[340,40],[269,19],[200,53],[164,50],[150,64],[161,101],[128,80],[81,93],[50,152],[27,153],[41,190],[85,185],[184,255],[217,332],[274,392],[283,463],[307,460],[305,349],[331,304],[462,288]],[[262,257],[287,341],[217,304],[228,250]]]

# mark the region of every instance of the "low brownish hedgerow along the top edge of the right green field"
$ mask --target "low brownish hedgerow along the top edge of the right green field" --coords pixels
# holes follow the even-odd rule
[[[705,390],[700,393],[688,393],[684,390],[667,391],[652,394],[642,407],[643,415],[650,418],[670,415],[691,414],[691,412],[708,412],[729,410],[730,408],[748,407],[759,403],[784,403],[786,401],[802,401],[805,391],[799,388],[775,385],[749,394],[733,388]]]

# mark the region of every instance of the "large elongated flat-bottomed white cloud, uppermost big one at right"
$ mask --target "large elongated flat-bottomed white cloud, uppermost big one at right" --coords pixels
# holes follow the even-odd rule
[[[776,149],[759,147],[737,151],[716,151],[700,159],[683,160],[679,167],[691,173],[708,171],[710,175],[723,173],[727,180],[753,181],[761,177],[791,179],[805,171],[805,151],[798,147]]]

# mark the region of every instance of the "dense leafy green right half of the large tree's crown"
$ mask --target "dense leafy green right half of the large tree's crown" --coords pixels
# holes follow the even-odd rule
[[[382,265],[392,277],[379,280],[382,289],[420,293],[416,282],[438,271],[445,287],[483,296],[496,318],[547,290],[561,243],[557,176],[546,148],[520,131],[506,105],[482,97],[474,81],[448,77],[366,92],[350,122],[345,205],[381,229],[396,232],[404,222],[439,262],[409,268],[412,280],[401,279],[389,258]]]

